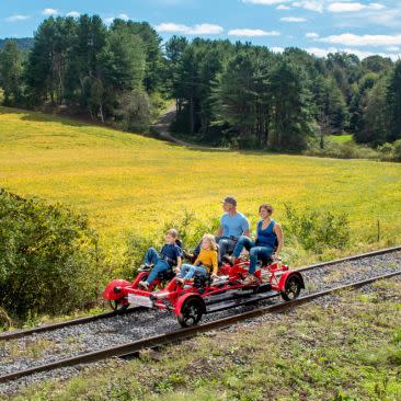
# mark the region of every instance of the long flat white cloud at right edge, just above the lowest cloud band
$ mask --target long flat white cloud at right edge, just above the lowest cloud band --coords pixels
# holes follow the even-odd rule
[[[355,35],[352,33],[345,33],[341,35],[330,35],[326,37],[321,37],[316,41],[345,46],[398,46],[401,45],[401,34]]]

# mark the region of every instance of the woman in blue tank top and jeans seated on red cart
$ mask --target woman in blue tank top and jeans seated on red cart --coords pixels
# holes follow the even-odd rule
[[[256,280],[254,273],[259,259],[279,257],[284,244],[282,227],[272,219],[273,207],[263,204],[259,208],[261,220],[257,224],[256,240],[252,241],[249,237],[242,236],[237,242],[232,252],[231,262],[239,257],[245,248],[250,252],[249,274],[243,280],[244,284],[252,284]]]

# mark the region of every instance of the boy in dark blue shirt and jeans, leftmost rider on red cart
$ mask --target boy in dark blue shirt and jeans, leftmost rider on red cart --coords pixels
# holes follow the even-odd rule
[[[165,232],[165,244],[160,251],[160,254],[154,248],[149,248],[145,255],[145,266],[152,267],[146,280],[139,282],[138,286],[149,289],[149,286],[158,277],[159,273],[165,272],[173,266],[181,266],[182,250],[176,244],[179,232],[171,228]]]

